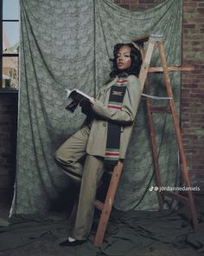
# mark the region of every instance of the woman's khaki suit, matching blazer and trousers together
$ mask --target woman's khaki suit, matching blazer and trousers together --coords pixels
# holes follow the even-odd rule
[[[73,239],[86,240],[92,226],[94,200],[97,186],[104,173],[107,121],[115,121],[122,125],[120,138],[120,159],[124,159],[131,138],[132,124],[142,94],[140,82],[135,75],[127,77],[128,83],[121,110],[107,108],[112,85],[118,78],[106,84],[92,106],[95,118],[92,124],[85,125],[71,138],[65,141],[55,153],[55,159],[73,181],[81,181],[79,207]],[[86,156],[83,166],[80,161]]]

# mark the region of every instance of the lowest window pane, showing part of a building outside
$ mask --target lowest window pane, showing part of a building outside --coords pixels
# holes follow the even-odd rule
[[[18,89],[18,57],[3,57],[3,88]]]

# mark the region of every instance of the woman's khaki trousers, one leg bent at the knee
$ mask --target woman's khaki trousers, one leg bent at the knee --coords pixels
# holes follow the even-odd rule
[[[73,181],[80,183],[80,198],[77,216],[71,237],[86,240],[94,213],[97,187],[105,167],[102,157],[86,154],[90,128],[85,126],[65,141],[55,153],[57,163]],[[86,157],[84,166],[82,159]]]

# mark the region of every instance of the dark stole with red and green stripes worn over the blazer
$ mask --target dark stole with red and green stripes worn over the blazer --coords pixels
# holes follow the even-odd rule
[[[127,79],[119,78],[112,86],[108,108],[118,111],[122,108],[127,82]],[[107,123],[105,164],[117,165],[119,160],[121,125],[112,121],[108,121]]]

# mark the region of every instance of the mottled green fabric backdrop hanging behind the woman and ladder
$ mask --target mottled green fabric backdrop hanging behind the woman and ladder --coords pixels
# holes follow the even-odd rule
[[[110,0],[21,0],[20,92],[15,197],[11,213],[49,213],[70,187],[54,151],[80,128],[84,115],[65,110],[65,89],[96,95],[107,81],[115,43],[163,33],[169,64],[180,64],[182,0],[149,10],[124,10]],[[157,62],[157,51],[153,64]],[[179,109],[180,75],[171,74]],[[152,95],[166,96],[161,75],[150,76]],[[157,102],[156,102],[157,103]],[[157,209],[150,134],[144,101],[137,115],[115,207]],[[168,115],[154,115],[164,186],[178,177],[177,147]],[[72,191],[70,192],[72,194]],[[68,197],[68,195],[67,195]],[[65,204],[66,196],[63,198]],[[138,205],[138,206],[137,206]]]

